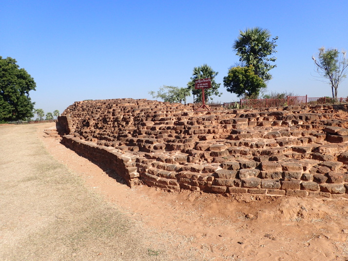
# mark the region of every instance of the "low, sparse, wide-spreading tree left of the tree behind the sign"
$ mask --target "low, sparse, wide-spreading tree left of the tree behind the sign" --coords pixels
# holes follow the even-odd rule
[[[179,88],[174,86],[166,86],[159,88],[159,91],[154,92],[151,91],[149,94],[154,99],[162,99],[163,101],[169,101],[169,102],[184,102],[186,104],[186,97],[190,96],[190,90],[187,88]]]

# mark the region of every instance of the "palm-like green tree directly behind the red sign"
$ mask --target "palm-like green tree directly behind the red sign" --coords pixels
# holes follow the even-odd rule
[[[212,88],[205,89],[204,90],[204,96],[206,100],[208,101],[209,98],[213,100],[211,96],[217,95],[221,96],[222,93],[219,93],[219,88],[221,83],[215,82],[215,76],[218,75],[218,72],[214,72],[212,67],[208,66],[207,64],[203,64],[198,67],[193,68],[193,76],[190,78],[191,81],[188,82],[187,88],[192,91],[193,93],[193,101],[194,102],[202,102],[202,90],[196,90],[194,89],[194,82],[198,79],[205,79],[205,78],[211,78],[212,79]]]

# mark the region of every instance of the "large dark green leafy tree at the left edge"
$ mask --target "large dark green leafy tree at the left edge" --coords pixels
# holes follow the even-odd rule
[[[29,97],[36,83],[24,68],[11,57],[0,56],[0,121],[23,120],[33,117],[34,102]]]

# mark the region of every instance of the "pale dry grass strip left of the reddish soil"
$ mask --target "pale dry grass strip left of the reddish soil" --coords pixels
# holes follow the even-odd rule
[[[0,126],[0,136],[0,260],[167,260],[47,153],[35,127]]]

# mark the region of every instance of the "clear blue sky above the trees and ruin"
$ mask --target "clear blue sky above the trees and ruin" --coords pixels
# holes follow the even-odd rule
[[[219,74],[221,97],[239,30],[278,36],[268,91],[330,96],[314,76],[318,48],[348,49],[347,0],[3,0],[0,56],[34,77],[36,109],[59,110],[84,99],[147,98],[162,85],[186,87],[193,67]],[[338,96],[348,95],[348,79]],[[192,96],[188,99],[192,102]]]

